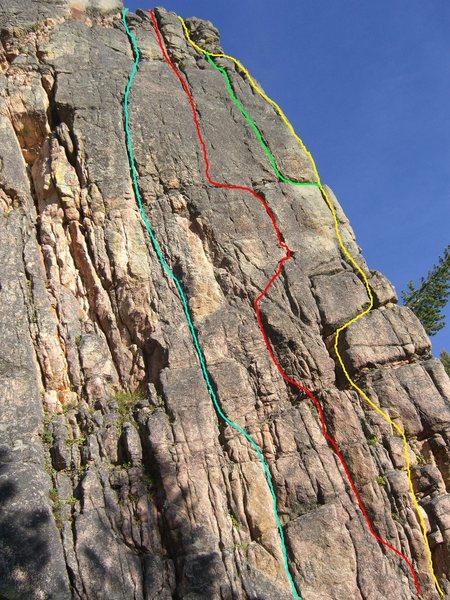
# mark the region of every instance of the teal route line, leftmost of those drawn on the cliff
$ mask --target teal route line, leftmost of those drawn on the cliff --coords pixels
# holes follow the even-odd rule
[[[129,127],[129,114],[128,114],[128,97],[130,95],[130,90],[131,90],[131,85],[133,83],[133,79],[134,76],[136,75],[136,71],[137,71],[137,67],[139,64],[139,48],[138,48],[138,44],[136,41],[136,38],[134,37],[134,35],[131,33],[131,31],[128,28],[128,24],[126,21],[126,14],[128,12],[128,8],[125,8],[124,11],[122,12],[122,21],[125,27],[125,30],[127,32],[128,37],[131,39],[132,44],[133,44],[133,50],[134,50],[134,54],[135,54],[135,60],[134,60],[134,64],[133,64],[133,68],[128,80],[128,84],[125,90],[125,95],[124,95],[124,102],[123,102],[123,107],[124,107],[124,113],[125,113],[125,132],[126,132],[126,138],[127,138],[127,150],[128,150],[128,158],[130,161],[130,168],[131,168],[131,174],[132,174],[132,179],[133,179],[133,186],[134,186],[134,192],[135,192],[135,196],[139,205],[139,210],[142,216],[142,220],[144,221],[145,227],[150,235],[153,247],[155,249],[156,254],[158,255],[158,259],[159,262],[161,263],[164,271],[167,273],[167,275],[173,279],[177,289],[178,289],[178,293],[180,294],[180,298],[181,301],[183,303],[183,309],[184,309],[184,313],[186,315],[186,319],[188,321],[189,324],[189,329],[192,335],[192,340],[194,342],[194,346],[195,346],[195,350],[197,351],[197,356],[198,359],[200,361],[200,366],[203,372],[203,377],[205,379],[206,382],[206,386],[208,388],[208,391],[210,393],[211,399],[213,401],[214,407],[217,411],[217,413],[220,415],[220,417],[226,422],[228,423],[228,425],[230,425],[231,427],[233,427],[233,429],[235,429],[236,431],[239,431],[239,433],[241,433],[247,440],[248,442],[250,442],[251,446],[253,447],[253,449],[255,450],[255,452],[258,455],[258,458],[263,466],[264,469],[264,474],[266,476],[266,480],[267,483],[269,485],[270,488],[270,493],[272,494],[272,499],[273,499],[273,512],[275,515],[275,520],[277,523],[277,527],[278,527],[278,532],[280,534],[280,538],[281,538],[281,545],[283,548],[283,559],[284,559],[284,566],[286,569],[286,574],[288,576],[289,582],[291,584],[291,588],[292,588],[292,593],[294,595],[294,598],[296,598],[296,600],[302,600],[302,597],[298,595],[296,589],[295,589],[295,584],[294,584],[294,580],[292,578],[292,575],[290,573],[289,570],[289,564],[288,564],[288,559],[287,559],[287,551],[286,551],[286,544],[284,541],[284,534],[283,534],[283,527],[281,525],[281,521],[280,518],[278,516],[278,511],[277,511],[277,498],[275,495],[275,490],[273,488],[273,484],[272,484],[272,478],[270,476],[270,472],[269,469],[267,467],[266,461],[264,460],[264,456],[261,453],[261,450],[259,449],[258,445],[256,444],[256,442],[253,440],[253,438],[244,430],[242,429],[242,427],[239,427],[239,425],[237,425],[236,423],[234,423],[233,421],[231,421],[230,419],[228,419],[228,417],[223,413],[222,409],[220,408],[220,404],[219,401],[217,399],[216,393],[214,392],[214,389],[211,385],[211,381],[209,378],[209,373],[208,370],[206,368],[206,364],[205,364],[205,359],[203,357],[203,353],[201,351],[200,345],[198,343],[198,338],[197,338],[197,334],[195,332],[194,329],[194,325],[192,323],[192,319],[191,319],[191,315],[189,312],[189,307],[188,307],[188,303],[187,303],[187,299],[186,296],[183,292],[183,288],[181,287],[180,282],[178,281],[178,279],[176,278],[176,276],[173,274],[173,272],[170,270],[169,266],[166,263],[166,260],[161,252],[161,248],[159,247],[158,241],[155,237],[155,234],[153,233],[153,230],[150,226],[150,223],[148,222],[147,219],[147,215],[145,214],[145,210],[144,210],[144,206],[142,204],[142,199],[141,199],[141,194],[139,191],[139,185],[138,185],[138,181],[137,181],[137,170],[136,170],[136,165],[135,165],[135,161],[134,161],[134,154],[133,154],[133,145],[131,142],[131,135],[130,135],[130,127]]]

